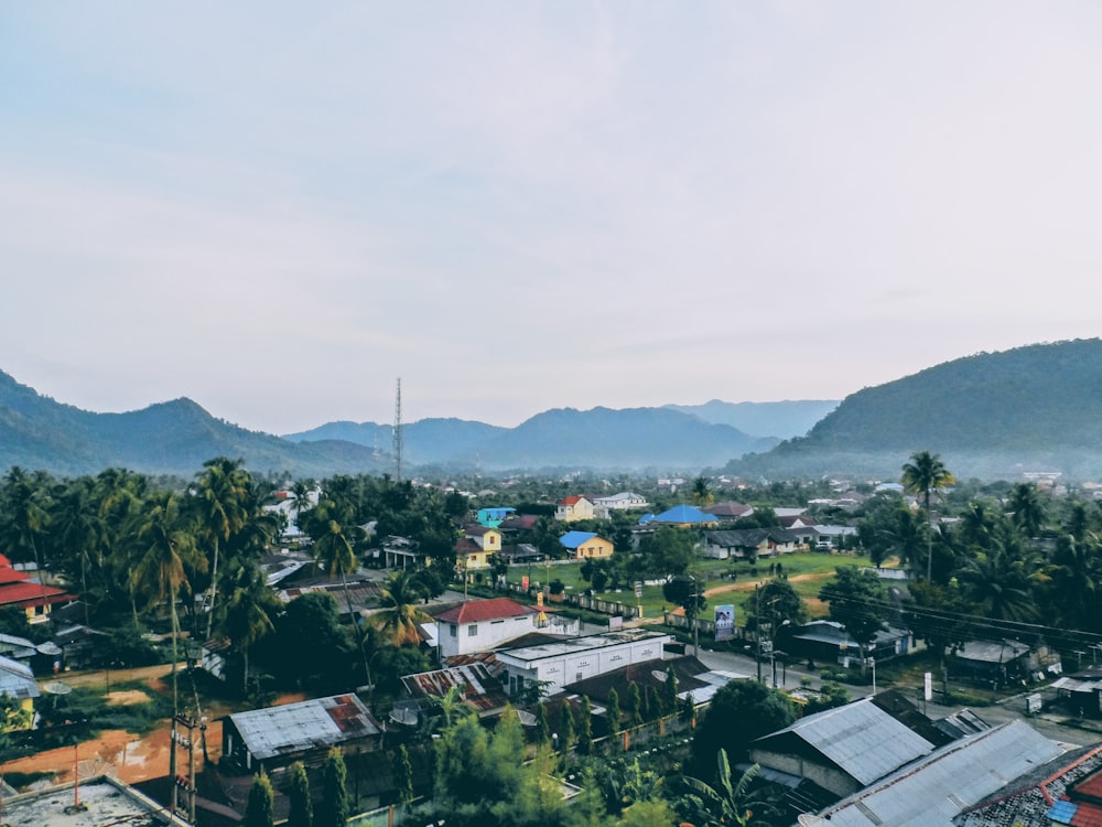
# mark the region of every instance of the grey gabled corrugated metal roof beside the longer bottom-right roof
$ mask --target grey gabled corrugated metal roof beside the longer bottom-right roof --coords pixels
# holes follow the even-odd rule
[[[934,748],[871,698],[802,718],[788,729],[758,739],[755,745],[769,749],[770,740],[789,732],[866,785]]]

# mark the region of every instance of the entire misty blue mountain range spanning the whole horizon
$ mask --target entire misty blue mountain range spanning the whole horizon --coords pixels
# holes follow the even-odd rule
[[[1102,341],[1076,340],[947,362],[845,399],[669,405],[538,414],[516,428],[424,419],[402,428],[403,469],[680,471],[789,479],[898,477],[915,451],[959,477],[1059,471],[1102,477]],[[213,457],[259,473],[324,477],[395,470],[393,430],[329,422],[277,437],[182,398],[126,414],[57,402],[0,372],[0,469],[58,475],[123,466],[190,477]]]

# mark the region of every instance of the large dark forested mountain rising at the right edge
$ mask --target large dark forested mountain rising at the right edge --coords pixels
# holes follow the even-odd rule
[[[1102,477],[1102,341],[981,353],[846,397],[807,437],[732,461],[732,473],[896,479],[918,450],[957,476],[1061,471]]]

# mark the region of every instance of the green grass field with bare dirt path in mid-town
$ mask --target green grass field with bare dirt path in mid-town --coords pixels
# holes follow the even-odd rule
[[[777,559],[760,560],[756,566],[742,560],[699,560],[693,566],[692,573],[703,581],[702,589],[709,609],[733,604],[738,623],[742,625],[746,619],[746,604],[754,599],[754,587],[774,576],[769,569],[771,563],[781,567],[789,584],[807,603],[809,614],[821,616],[827,613],[827,606],[819,602],[817,595],[823,584],[834,576],[835,568],[867,566],[868,560],[864,557],[822,554],[784,555]],[[520,583],[521,578],[526,576],[530,578],[530,582],[540,584],[549,579],[561,580],[566,587],[566,594],[579,594],[590,588],[590,584],[582,580],[581,563],[577,562],[515,566],[509,569],[507,578],[510,583]],[[630,605],[639,603],[646,617],[660,616],[665,610],[671,608],[662,598],[660,584],[644,584],[642,598],[638,601],[630,586],[619,591],[596,592],[594,597]]]

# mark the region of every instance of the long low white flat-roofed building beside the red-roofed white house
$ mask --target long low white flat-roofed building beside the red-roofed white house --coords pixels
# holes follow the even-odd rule
[[[547,681],[548,694],[554,695],[568,684],[663,657],[665,645],[672,641],[672,635],[661,632],[624,629],[506,649],[497,653],[497,662],[504,667],[501,683],[510,696],[536,681]]]

